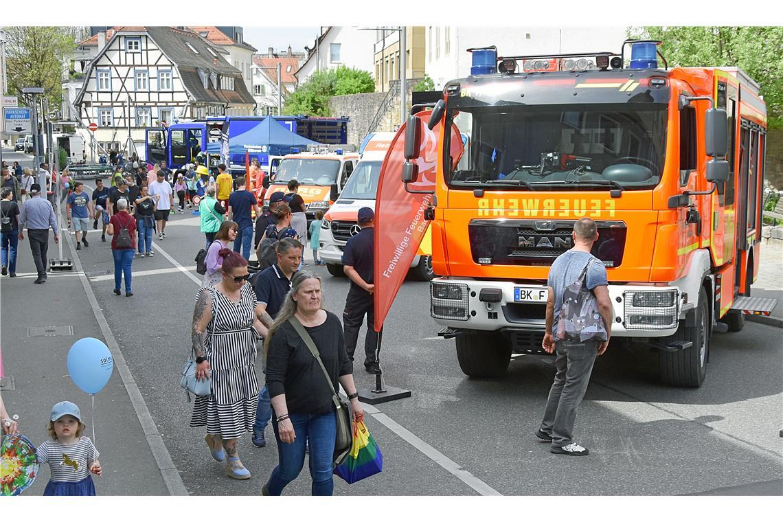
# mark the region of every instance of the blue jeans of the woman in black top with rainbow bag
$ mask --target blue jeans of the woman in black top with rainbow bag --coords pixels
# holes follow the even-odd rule
[[[312,495],[332,495],[332,459],[334,458],[334,437],[337,434],[337,419],[334,412],[323,415],[291,413],[294,424],[294,444],[280,441],[277,419],[272,420],[272,429],[277,438],[277,457],[280,463],[272,470],[272,476],[266,485],[269,495],[280,495],[290,481],[299,476],[305,465],[305,442],[310,445],[310,477],[312,477]]]

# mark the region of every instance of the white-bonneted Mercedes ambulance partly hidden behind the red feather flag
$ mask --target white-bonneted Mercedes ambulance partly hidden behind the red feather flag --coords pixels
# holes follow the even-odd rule
[[[331,275],[342,277],[342,253],[345,243],[359,233],[358,214],[362,207],[375,209],[375,195],[381,164],[388,152],[394,132],[371,132],[359,146],[361,159],[337,201],[324,214],[321,221],[318,254],[327,262]],[[410,265],[410,275],[420,281],[433,277],[431,244],[429,235],[421,242],[416,257]]]

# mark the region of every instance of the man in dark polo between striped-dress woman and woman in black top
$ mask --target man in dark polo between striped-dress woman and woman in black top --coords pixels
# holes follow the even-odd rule
[[[277,264],[262,270],[255,279],[253,290],[262,309],[259,319],[269,328],[274,322],[277,312],[283,306],[283,300],[291,287],[291,276],[301,263],[304,245],[297,239],[284,238],[277,243]],[[272,419],[272,404],[269,400],[269,390],[266,385],[258,393],[258,408],[255,411],[253,424],[253,445],[263,448],[266,445],[264,430]]]

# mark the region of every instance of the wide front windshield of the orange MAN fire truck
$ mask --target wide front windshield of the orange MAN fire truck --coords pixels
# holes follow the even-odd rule
[[[471,140],[454,188],[633,190],[661,179],[663,104],[466,107],[455,123]]]

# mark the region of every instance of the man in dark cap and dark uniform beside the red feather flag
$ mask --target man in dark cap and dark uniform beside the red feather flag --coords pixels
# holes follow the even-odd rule
[[[375,213],[370,207],[359,209],[359,233],[345,244],[342,262],[345,275],[351,279],[351,289],[343,311],[343,336],[345,351],[353,361],[353,352],[359,340],[359,329],[367,316],[367,335],[364,338],[364,367],[367,373],[377,373],[379,365],[375,349],[378,333],[375,331],[375,308],[373,306],[373,254]]]

